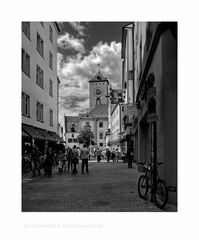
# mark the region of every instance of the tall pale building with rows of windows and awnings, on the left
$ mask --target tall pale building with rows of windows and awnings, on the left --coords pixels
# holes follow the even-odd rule
[[[63,141],[57,134],[59,32],[56,22],[22,22],[22,142],[41,151]]]

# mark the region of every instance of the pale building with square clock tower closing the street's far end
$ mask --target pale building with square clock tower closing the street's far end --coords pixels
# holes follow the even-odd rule
[[[66,126],[66,146],[77,145],[75,143],[69,144],[68,138],[71,139],[72,132],[68,128],[68,122],[78,122],[78,133],[84,126],[90,126],[94,133],[95,145],[100,148],[106,146],[105,132],[108,129],[108,85],[109,82],[100,71],[89,81],[90,84],[90,109],[84,114],[79,114],[78,117],[65,117]],[[73,133],[74,134],[74,133]],[[78,135],[78,134],[77,134]]]

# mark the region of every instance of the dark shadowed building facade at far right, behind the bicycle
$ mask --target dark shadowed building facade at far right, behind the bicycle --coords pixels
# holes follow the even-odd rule
[[[177,203],[177,23],[147,23],[145,29],[137,79],[138,157],[163,162],[169,201]]]

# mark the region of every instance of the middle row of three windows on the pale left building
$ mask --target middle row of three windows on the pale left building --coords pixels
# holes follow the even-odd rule
[[[22,71],[30,76],[30,56],[22,49]],[[36,67],[36,83],[44,88],[44,71],[37,65]],[[49,95],[53,97],[53,81],[49,79]]]

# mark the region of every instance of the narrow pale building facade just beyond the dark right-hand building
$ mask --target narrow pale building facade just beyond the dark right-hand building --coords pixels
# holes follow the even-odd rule
[[[134,161],[137,160],[137,107],[135,98],[137,94],[135,81],[135,57],[134,51],[134,23],[130,23],[122,29],[122,92],[124,104],[122,106],[122,139],[121,148],[127,153],[131,148],[134,152]]]

